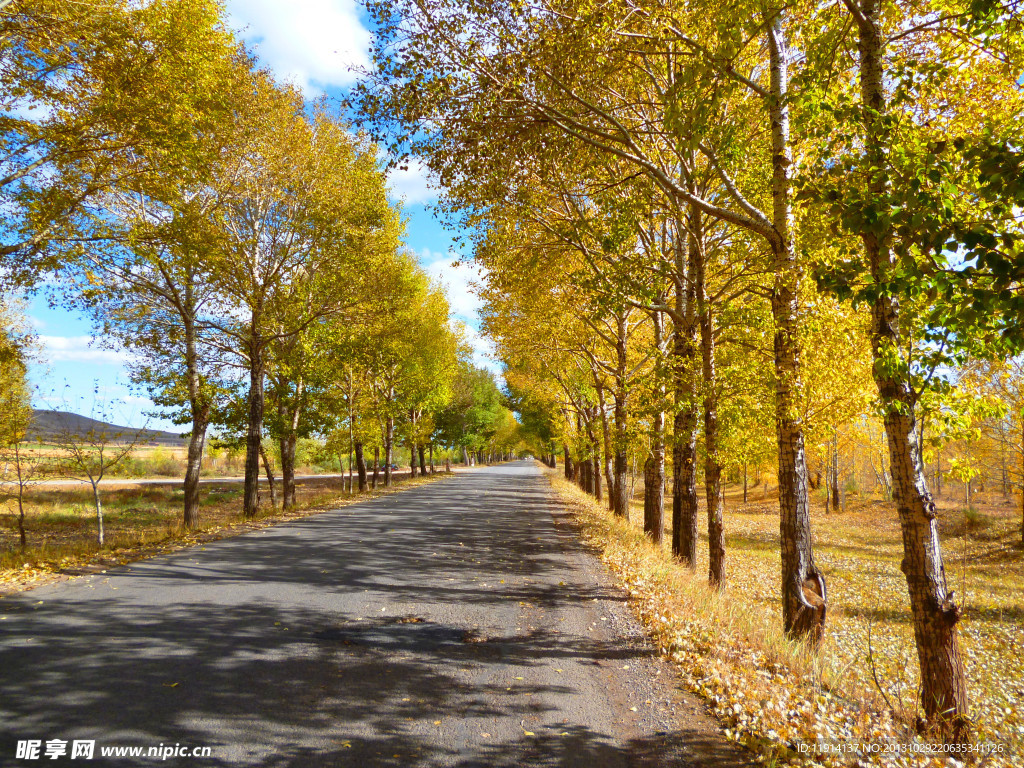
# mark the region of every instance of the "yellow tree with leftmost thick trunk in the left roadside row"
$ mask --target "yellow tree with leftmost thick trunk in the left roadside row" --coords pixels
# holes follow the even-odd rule
[[[205,323],[217,299],[209,264],[222,237],[217,211],[233,194],[233,179],[217,170],[238,150],[259,76],[224,29],[219,6],[165,10],[162,34],[190,31],[163,48],[161,79],[151,81],[167,99],[177,143],[110,158],[115,180],[51,248],[71,256],[60,269],[67,300],[84,306],[101,338],[132,352],[132,378],[165,414],[189,425],[183,521],[193,528],[207,430],[227,378],[224,345]]]

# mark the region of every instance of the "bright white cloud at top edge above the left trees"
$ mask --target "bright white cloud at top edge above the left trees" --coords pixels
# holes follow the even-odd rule
[[[227,11],[260,61],[307,98],[351,85],[350,68],[370,63],[373,36],[354,0],[229,0]]]

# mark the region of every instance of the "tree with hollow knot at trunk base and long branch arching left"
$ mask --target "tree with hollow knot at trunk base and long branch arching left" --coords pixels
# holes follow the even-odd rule
[[[443,186],[472,183],[502,154],[527,167],[529,148],[548,142],[550,152],[567,138],[647,176],[680,215],[727,222],[767,250],[783,622],[795,636],[820,638],[826,595],[812,555],[797,409],[802,262],[790,135],[797,63],[790,40],[813,29],[800,26],[807,6],[370,6],[379,22],[378,73],[358,94],[362,112],[382,132],[398,121],[394,148],[424,155]],[[698,189],[698,158],[718,181],[716,199]]]

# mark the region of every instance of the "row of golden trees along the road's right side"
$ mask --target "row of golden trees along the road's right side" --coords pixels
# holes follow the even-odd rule
[[[486,331],[549,463],[560,449],[626,515],[640,454],[645,529],[660,541],[671,482],[691,565],[702,476],[721,585],[723,474],[771,462],[783,624],[814,646],[829,601],[810,492],[824,475],[838,500],[840,433],[879,424],[920,725],[969,740],[925,463],[941,430],[923,429],[967,418],[972,360],[1021,350],[1020,3],[367,7],[353,102],[425,159],[470,233]]]

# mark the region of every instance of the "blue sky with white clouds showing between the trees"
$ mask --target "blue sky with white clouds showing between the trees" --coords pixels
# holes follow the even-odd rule
[[[230,24],[255,50],[261,63],[281,81],[295,84],[307,98],[342,95],[355,80],[352,67],[369,65],[372,34],[353,0],[228,0]],[[423,170],[416,163],[395,171],[390,187],[402,201],[408,224],[408,247],[433,280],[442,284],[452,314],[468,328],[468,341],[477,365],[497,370],[486,356],[487,342],[477,333],[479,302],[470,291],[477,279],[470,265],[453,265],[451,231],[428,210],[436,200]],[[36,407],[72,410],[88,415],[97,400],[116,420],[140,426],[153,403],[132,391],[125,372],[125,354],[95,343],[88,317],[50,308],[45,297],[29,305],[42,345],[41,360],[32,371],[37,387]],[[98,396],[94,394],[98,392]],[[169,422],[151,419],[150,426],[180,430]]]

